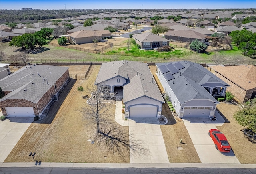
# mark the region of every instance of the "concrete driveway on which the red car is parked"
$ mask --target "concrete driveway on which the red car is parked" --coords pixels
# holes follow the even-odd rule
[[[229,153],[218,151],[212,138],[208,135],[210,129],[217,129],[216,126],[222,126],[225,122],[217,111],[215,116],[218,118],[216,121],[210,121],[209,118],[190,117],[183,119],[201,162],[240,164],[232,150]]]

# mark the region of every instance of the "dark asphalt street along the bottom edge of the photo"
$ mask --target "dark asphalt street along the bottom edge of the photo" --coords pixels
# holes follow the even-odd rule
[[[1,174],[255,174],[256,169],[248,168],[70,168],[70,167],[2,167]]]

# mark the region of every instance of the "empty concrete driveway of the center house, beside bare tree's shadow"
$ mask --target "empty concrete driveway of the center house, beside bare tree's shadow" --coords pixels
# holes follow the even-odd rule
[[[158,118],[129,119],[130,163],[169,163]]]

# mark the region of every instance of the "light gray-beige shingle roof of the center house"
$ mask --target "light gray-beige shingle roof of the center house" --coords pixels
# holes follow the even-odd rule
[[[102,63],[95,84],[117,76],[127,79],[124,85],[124,102],[146,96],[164,103],[146,63],[126,60]]]

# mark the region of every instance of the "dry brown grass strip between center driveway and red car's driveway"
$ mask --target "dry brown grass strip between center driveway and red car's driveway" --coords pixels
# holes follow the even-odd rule
[[[156,76],[156,66],[149,67],[163,93],[164,88]],[[160,127],[170,163],[201,163],[184,123],[174,119],[167,103],[163,105],[162,115],[168,119],[167,125]],[[180,144],[180,139],[184,143]],[[178,147],[182,147],[183,150],[178,150]]]

